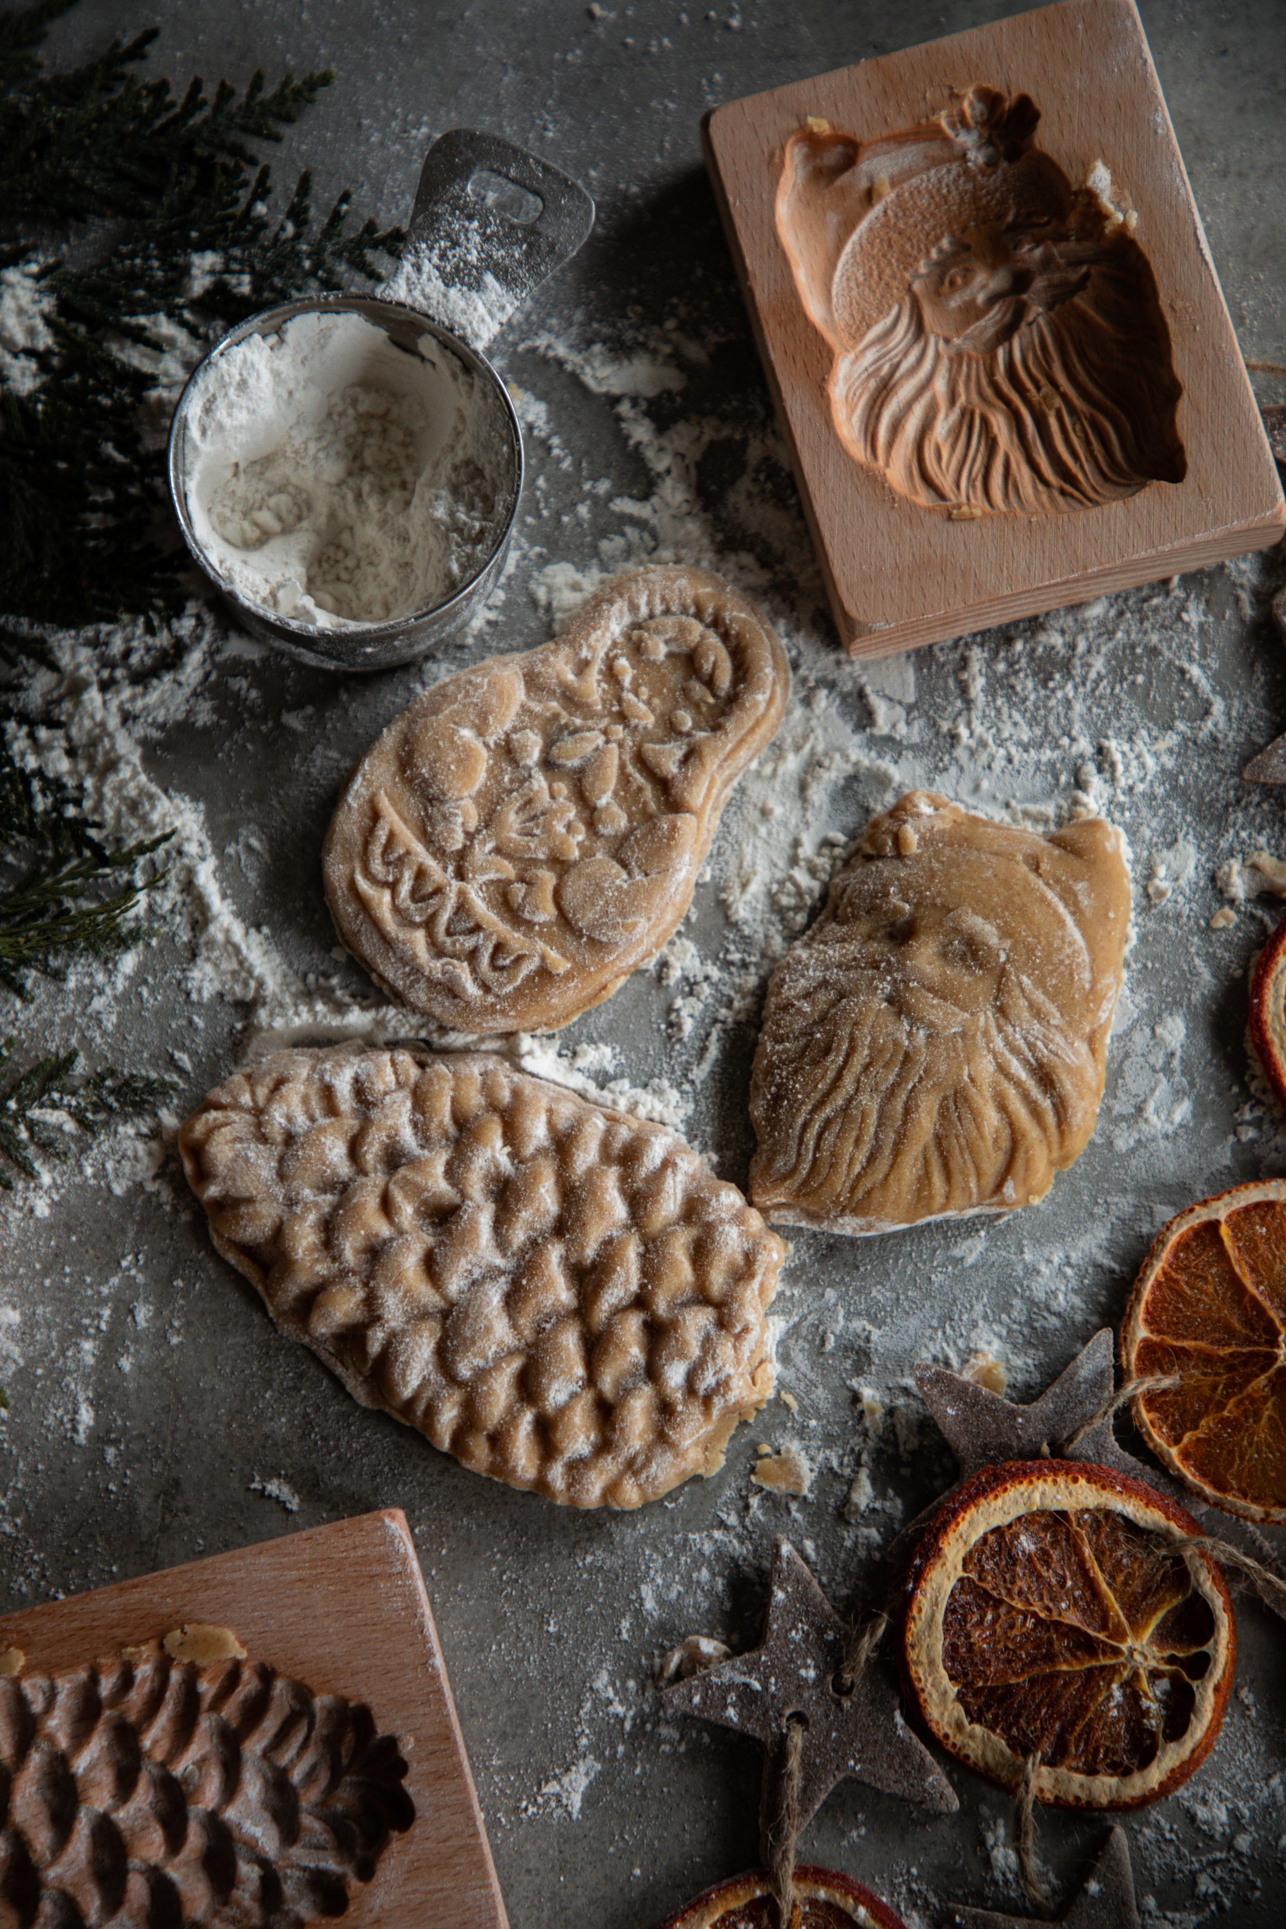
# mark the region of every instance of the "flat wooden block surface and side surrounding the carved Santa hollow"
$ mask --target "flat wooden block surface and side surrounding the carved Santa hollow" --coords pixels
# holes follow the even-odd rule
[[[970,85],[1030,93],[1037,145],[1072,181],[1103,160],[1138,210],[1184,384],[1184,482],[1062,515],[952,521],[898,498],[843,449],[831,349],[808,320],[773,224],[781,150],[808,116],[858,139],[925,120]],[[1064,0],[715,108],[706,160],[790,446],[831,600],[854,656],[991,623],[1267,548],[1286,503],[1209,257],[1134,0]]]

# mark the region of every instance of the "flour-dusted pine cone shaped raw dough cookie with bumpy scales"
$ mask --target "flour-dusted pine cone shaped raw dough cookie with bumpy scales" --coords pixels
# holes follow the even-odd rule
[[[657,1125],[484,1053],[283,1051],[179,1130],[214,1244],[362,1406],[638,1507],[769,1397],[785,1246]]]

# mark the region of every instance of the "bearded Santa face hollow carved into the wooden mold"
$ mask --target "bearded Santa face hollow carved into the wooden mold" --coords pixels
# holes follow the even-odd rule
[[[1058,515],[1188,473],[1147,257],[1037,122],[972,87],[875,141],[787,141],[777,235],[835,351],[835,430],[922,507]]]

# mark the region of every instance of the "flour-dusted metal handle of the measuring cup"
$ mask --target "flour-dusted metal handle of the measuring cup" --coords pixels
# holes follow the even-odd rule
[[[594,226],[594,201],[548,160],[496,133],[453,127],[424,156],[389,301],[484,349]]]

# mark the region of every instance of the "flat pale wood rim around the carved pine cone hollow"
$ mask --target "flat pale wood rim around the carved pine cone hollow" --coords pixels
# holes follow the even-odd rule
[[[364,1701],[378,1732],[397,1736],[415,1823],[349,1890],[345,1929],[509,1929],[401,1508],[8,1615],[0,1647],[21,1647],[23,1672],[54,1672],[185,1620],[231,1628],[251,1661]]]

